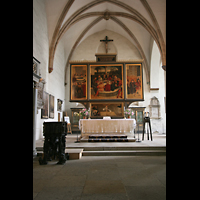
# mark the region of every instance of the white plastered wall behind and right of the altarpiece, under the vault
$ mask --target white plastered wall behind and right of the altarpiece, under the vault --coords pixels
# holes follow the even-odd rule
[[[100,39],[108,36],[109,39],[113,39],[113,42],[108,43],[108,53],[117,53],[117,60],[139,60],[141,56],[137,48],[124,36],[115,33],[110,30],[104,30],[88,36],[82,41],[75,49],[71,60],[83,61],[96,59],[95,53],[105,53],[103,45],[100,43]],[[112,44],[111,44],[112,43]],[[159,53],[159,52],[158,52]],[[160,59],[159,59],[160,61]],[[156,61],[155,61],[156,62]],[[153,65],[153,64],[152,64]],[[153,65],[154,66],[154,65]],[[150,111],[150,100],[153,96],[156,96],[160,102],[161,119],[152,119],[152,131],[163,133],[166,132],[166,113],[164,105],[165,96],[165,83],[164,83],[164,70],[161,68],[161,63],[153,67],[153,71],[150,71],[151,76],[157,81],[153,83],[159,90],[150,90],[150,85],[146,80],[146,73],[143,69],[143,84],[144,84],[144,101],[139,102],[139,106],[146,107],[146,111]],[[151,77],[150,77],[151,78]],[[150,82],[151,83],[151,82]],[[76,103],[69,102],[70,100],[70,65],[67,68],[67,85],[65,88],[65,110],[71,117],[70,108],[76,107]]]

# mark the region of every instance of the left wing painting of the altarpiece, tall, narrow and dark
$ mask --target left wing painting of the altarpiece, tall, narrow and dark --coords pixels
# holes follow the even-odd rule
[[[87,65],[71,65],[71,100],[87,99]]]

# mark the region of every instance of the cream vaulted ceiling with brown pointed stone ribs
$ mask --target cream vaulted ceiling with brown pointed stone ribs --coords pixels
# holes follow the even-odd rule
[[[153,41],[166,69],[166,0],[45,0],[49,36],[49,73],[58,43],[69,61],[86,37],[112,30],[134,44],[149,71]]]

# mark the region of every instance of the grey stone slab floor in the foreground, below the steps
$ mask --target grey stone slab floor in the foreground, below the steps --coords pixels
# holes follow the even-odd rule
[[[83,156],[64,165],[33,160],[34,200],[164,200],[166,156]]]

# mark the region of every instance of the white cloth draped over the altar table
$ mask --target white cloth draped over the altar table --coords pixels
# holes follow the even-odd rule
[[[133,133],[135,119],[80,119],[81,136],[90,134],[126,134]]]

